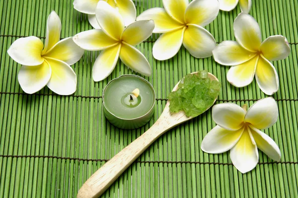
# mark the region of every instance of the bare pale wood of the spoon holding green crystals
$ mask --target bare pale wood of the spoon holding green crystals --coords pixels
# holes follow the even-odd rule
[[[197,74],[194,72],[192,74]],[[219,81],[214,75],[208,73],[208,77],[214,81]],[[178,89],[178,84],[173,91]],[[214,100],[214,102],[217,99]],[[213,103],[214,103],[213,102]],[[138,139],[130,143],[100,169],[98,169],[80,188],[77,198],[97,198],[102,195],[107,188],[163,133],[167,130],[192,119],[187,117],[184,111],[171,113],[169,109],[170,102],[167,101],[162,114],[158,120]],[[211,105],[212,106],[212,105]],[[206,110],[208,110],[209,106]],[[205,110],[205,111],[206,111]]]

